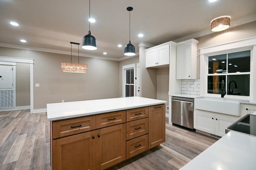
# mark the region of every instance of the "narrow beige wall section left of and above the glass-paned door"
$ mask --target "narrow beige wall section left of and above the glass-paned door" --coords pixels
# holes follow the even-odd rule
[[[122,78],[123,78],[123,72],[122,72],[122,66],[127,64],[133,64],[133,63],[139,63],[139,56],[131,57],[129,59],[125,59],[122,61],[119,61],[119,96],[122,96]]]

